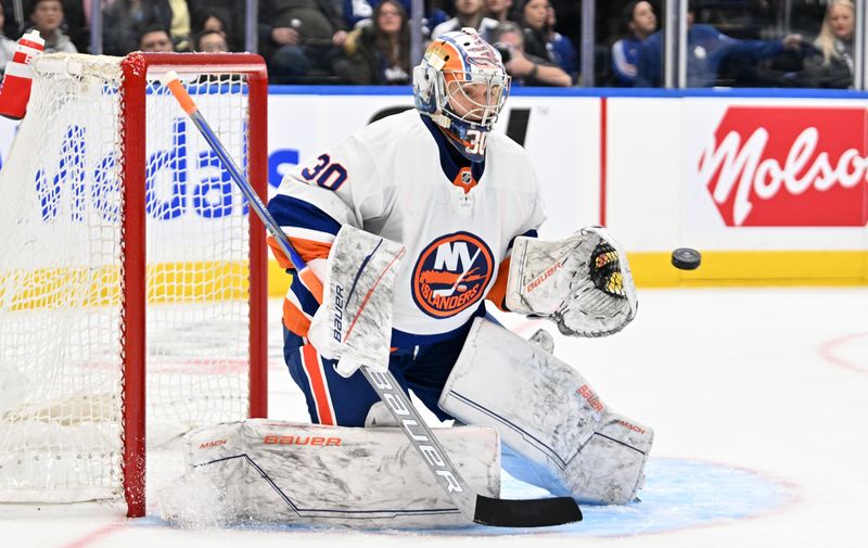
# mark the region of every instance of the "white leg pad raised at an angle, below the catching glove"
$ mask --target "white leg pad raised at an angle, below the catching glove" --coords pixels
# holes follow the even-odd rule
[[[620,505],[642,486],[653,431],[608,409],[575,369],[484,318],[474,321],[439,406],[497,429],[505,467],[509,448],[533,468],[513,475],[554,495]]]

